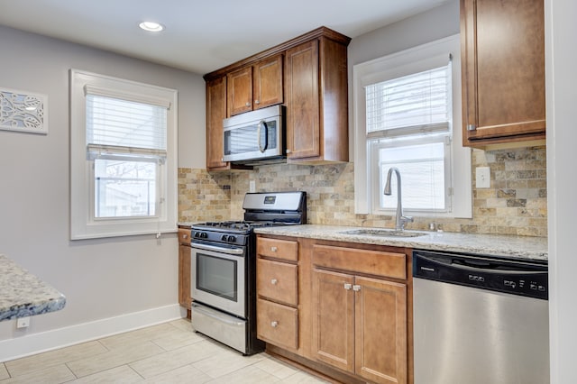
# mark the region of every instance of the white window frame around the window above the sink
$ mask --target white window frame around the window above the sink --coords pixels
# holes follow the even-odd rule
[[[375,159],[371,155],[371,141],[366,133],[366,85],[378,83],[389,78],[400,78],[413,73],[434,68],[436,63],[446,64],[449,55],[452,64],[453,95],[453,139],[451,145],[452,204],[448,212],[410,211],[405,213],[416,216],[435,217],[472,217],[472,160],[471,149],[463,147],[462,105],[461,105],[461,54],[459,35],[453,35],[438,41],[432,41],[415,48],[402,50],[388,56],[373,59],[353,67],[353,151],[354,151],[354,212],[357,215],[389,215],[394,210],[382,210],[376,206],[382,193],[376,174],[371,174],[369,162]],[[378,168],[375,166],[373,168]]]

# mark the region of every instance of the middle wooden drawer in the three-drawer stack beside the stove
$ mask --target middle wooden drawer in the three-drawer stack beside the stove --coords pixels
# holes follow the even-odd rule
[[[286,262],[258,259],[256,286],[259,296],[298,305],[298,266]]]

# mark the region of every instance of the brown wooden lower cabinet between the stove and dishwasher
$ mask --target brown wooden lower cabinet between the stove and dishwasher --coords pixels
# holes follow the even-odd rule
[[[274,238],[261,239],[274,246]],[[412,383],[410,250],[277,240],[298,243],[298,266],[290,274],[270,261],[257,266],[257,332],[267,351],[343,382]],[[271,274],[298,276],[297,299],[271,294]]]

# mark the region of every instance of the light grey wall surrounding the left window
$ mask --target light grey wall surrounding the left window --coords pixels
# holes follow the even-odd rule
[[[0,131],[0,253],[67,297],[63,310],[33,316],[25,331],[0,323],[0,361],[4,347],[26,353],[14,345],[43,332],[140,311],[133,317],[144,323],[180,315],[175,233],[69,241],[69,69],[178,89],[179,167],[189,168],[205,168],[203,78],[2,26],[0,52],[0,87],[47,95],[50,115],[48,135]]]

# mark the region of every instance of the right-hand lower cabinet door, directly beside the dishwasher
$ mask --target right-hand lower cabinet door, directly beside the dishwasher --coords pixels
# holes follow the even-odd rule
[[[355,277],[355,373],[376,383],[407,382],[407,286]]]

